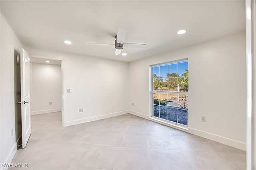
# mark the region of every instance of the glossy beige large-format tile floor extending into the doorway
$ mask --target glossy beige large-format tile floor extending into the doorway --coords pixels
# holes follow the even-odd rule
[[[12,161],[22,170],[246,169],[242,150],[130,114],[70,127],[60,112],[32,115],[31,126]]]

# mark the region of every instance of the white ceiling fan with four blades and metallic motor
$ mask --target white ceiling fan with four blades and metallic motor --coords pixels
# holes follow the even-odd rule
[[[143,44],[143,43],[124,43],[124,39],[126,36],[126,30],[122,28],[118,28],[117,35],[115,36],[116,40],[115,43],[91,43],[88,42],[88,44],[93,44],[93,45],[115,45],[116,48],[116,55],[119,55],[122,51],[122,49],[125,47],[147,47],[148,44]]]

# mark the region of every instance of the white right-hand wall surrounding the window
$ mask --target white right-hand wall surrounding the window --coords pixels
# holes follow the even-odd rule
[[[245,150],[245,49],[242,32],[131,62],[129,109],[142,117],[150,114],[150,65],[188,58],[188,132]]]

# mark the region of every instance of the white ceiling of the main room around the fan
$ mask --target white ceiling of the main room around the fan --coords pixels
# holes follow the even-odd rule
[[[1,10],[25,46],[128,62],[245,30],[244,0],[1,0]],[[149,47],[124,48],[122,56],[114,46],[86,44],[114,43],[119,27],[126,43]]]

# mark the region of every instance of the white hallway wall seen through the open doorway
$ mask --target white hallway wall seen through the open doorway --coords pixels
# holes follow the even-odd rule
[[[31,115],[60,111],[61,89],[60,65],[30,63]]]

